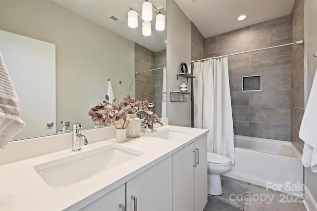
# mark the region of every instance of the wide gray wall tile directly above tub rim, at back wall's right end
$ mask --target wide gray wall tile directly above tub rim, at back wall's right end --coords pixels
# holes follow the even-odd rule
[[[290,141],[290,125],[250,122],[249,127],[249,135],[252,137]]]

